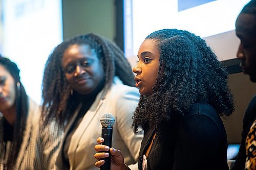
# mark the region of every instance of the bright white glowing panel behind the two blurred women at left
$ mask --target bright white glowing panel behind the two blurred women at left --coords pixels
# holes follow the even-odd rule
[[[41,103],[46,60],[62,41],[61,0],[3,0],[3,55],[20,69],[28,95]]]

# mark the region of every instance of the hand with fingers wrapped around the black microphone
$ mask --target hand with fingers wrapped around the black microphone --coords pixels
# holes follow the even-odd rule
[[[102,158],[109,157],[108,151],[110,150],[111,153],[111,170],[127,170],[128,167],[124,163],[123,155],[120,150],[109,148],[106,145],[102,145],[101,143],[104,141],[103,138],[99,137],[97,139],[97,145],[95,145],[94,149],[97,151],[96,154],[94,154],[94,157],[98,160],[95,163],[95,166],[100,167],[104,164],[104,160],[100,160]],[[102,152],[106,151],[106,152]]]

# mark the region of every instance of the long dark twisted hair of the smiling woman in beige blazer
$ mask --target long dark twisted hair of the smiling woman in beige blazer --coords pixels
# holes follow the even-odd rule
[[[46,123],[50,118],[56,117],[61,124],[69,117],[67,109],[71,99],[71,87],[66,80],[61,63],[63,53],[73,44],[88,44],[95,50],[103,65],[105,89],[111,87],[114,76],[118,76],[125,85],[135,85],[131,65],[115,43],[92,33],[63,41],[55,47],[45,65],[42,80],[42,113]]]

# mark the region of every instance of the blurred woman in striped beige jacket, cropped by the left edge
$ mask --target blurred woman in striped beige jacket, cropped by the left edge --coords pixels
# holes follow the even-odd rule
[[[17,65],[0,56],[0,169],[54,168],[58,135],[52,124],[40,129],[39,121]]]

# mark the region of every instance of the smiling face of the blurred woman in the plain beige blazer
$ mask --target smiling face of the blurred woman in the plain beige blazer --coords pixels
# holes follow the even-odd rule
[[[73,44],[63,54],[62,67],[68,83],[79,94],[90,94],[104,79],[97,54],[87,44]]]

